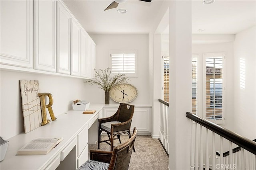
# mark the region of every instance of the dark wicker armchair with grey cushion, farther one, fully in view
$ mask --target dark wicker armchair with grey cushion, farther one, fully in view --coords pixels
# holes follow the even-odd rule
[[[134,113],[134,106],[129,104],[120,104],[116,113],[110,117],[98,119],[98,149],[100,143],[105,142],[110,145],[110,151],[114,148],[114,139],[119,139],[120,135],[127,133],[131,138],[131,123]],[[101,133],[105,131],[108,134],[108,140],[101,141]],[[110,143],[109,143],[110,142]],[[135,149],[133,148],[134,152]]]

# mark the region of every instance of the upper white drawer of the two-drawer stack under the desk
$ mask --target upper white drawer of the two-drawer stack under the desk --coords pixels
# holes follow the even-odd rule
[[[81,154],[86,145],[88,144],[88,125],[82,129],[77,135],[77,156]]]

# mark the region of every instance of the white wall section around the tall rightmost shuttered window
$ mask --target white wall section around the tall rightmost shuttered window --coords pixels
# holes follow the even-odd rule
[[[203,54],[204,53],[218,53],[218,52],[225,52],[225,104],[224,104],[224,117],[225,117],[225,125],[223,127],[233,130],[233,103],[234,103],[234,96],[233,96],[233,61],[234,61],[234,54],[233,54],[233,42],[229,43],[216,43],[216,44],[202,44],[202,45],[192,45],[192,53],[196,53],[199,55],[198,59],[198,115],[200,117],[203,116]],[[201,73],[201,74],[200,74]]]

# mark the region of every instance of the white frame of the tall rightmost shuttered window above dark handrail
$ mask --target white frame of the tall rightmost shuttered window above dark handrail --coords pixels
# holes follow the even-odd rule
[[[222,57],[222,119],[206,118],[206,59]],[[216,124],[225,124],[225,53],[203,53],[203,117]]]

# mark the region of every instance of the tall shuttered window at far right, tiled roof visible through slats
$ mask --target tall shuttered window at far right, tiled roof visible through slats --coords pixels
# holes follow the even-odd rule
[[[204,112],[206,119],[224,123],[224,53],[204,54]]]

